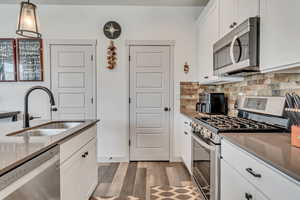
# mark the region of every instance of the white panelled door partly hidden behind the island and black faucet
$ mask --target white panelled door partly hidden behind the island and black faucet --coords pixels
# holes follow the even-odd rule
[[[57,111],[55,120],[95,118],[94,47],[51,45],[51,88]]]

